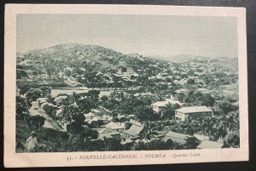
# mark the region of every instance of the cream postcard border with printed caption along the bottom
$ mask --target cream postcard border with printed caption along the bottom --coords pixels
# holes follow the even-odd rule
[[[236,17],[239,57],[239,110],[241,140],[240,148],[176,151],[90,151],[65,153],[15,153],[16,14],[158,14]],[[181,7],[151,5],[7,4],[5,7],[4,24],[5,167],[19,168],[57,166],[107,166],[188,162],[234,162],[248,160],[247,41],[246,10],[244,8]],[[121,155],[126,154],[131,156],[136,155],[137,158],[122,158]],[[166,155],[166,157],[147,158],[145,156],[147,154]],[[195,157],[195,154],[198,154],[199,156]],[[104,155],[107,158],[104,158]],[[92,157],[92,159],[84,159],[85,156],[90,156]],[[68,157],[70,159],[72,158],[72,160],[68,161]]]

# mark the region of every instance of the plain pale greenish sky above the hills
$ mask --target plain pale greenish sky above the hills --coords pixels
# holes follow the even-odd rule
[[[237,57],[236,19],[231,17],[17,14],[16,29],[19,53],[84,43],[143,56]]]

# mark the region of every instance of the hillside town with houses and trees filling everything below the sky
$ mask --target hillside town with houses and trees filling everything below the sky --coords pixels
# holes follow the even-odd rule
[[[236,58],[60,44],[16,62],[17,152],[32,131],[32,152],[239,148]]]

